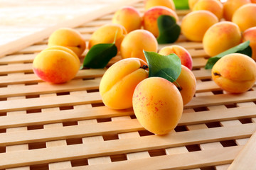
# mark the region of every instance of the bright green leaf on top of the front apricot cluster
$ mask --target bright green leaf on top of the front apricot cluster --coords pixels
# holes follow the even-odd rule
[[[181,60],[176,54],[159,55],[156,52],[143,51],[149,64],[149,77],[162,77],[171,82],[181,74]]]

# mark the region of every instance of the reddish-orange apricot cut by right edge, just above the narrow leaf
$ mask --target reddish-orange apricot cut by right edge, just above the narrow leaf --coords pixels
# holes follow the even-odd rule
[[[252,59],[256,61],[256,27],[249,28],[242,33],[244,41],[250,40],[252,48]]]

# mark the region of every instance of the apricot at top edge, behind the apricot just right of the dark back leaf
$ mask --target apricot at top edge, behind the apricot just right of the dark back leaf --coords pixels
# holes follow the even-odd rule
[[[223,4],[218,0],[200,0],[193,6],[193,11],[198,10],[210,11],[219,20],[223,18]]]

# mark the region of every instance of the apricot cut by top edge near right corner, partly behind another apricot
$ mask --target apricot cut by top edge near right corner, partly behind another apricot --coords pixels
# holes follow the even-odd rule
[[[228,0],[223,5],[223,18],[231,21],[233,13],[242,5],[249,4],[250,0]]]

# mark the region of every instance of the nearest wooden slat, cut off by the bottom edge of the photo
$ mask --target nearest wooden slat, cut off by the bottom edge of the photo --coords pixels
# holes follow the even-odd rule
[[[189,152],[186,154],[171,154],[148,159],[136,159],[132,161],[113,162],[112,164],[81,166],[78,169],[192,169],[203,166],[226,164],[233,161],[235,154],[242,147],[225,147],[222,149]],[[217,155],[217,156],[216,156]],[[68,169],[67,169],[68,170]]]

